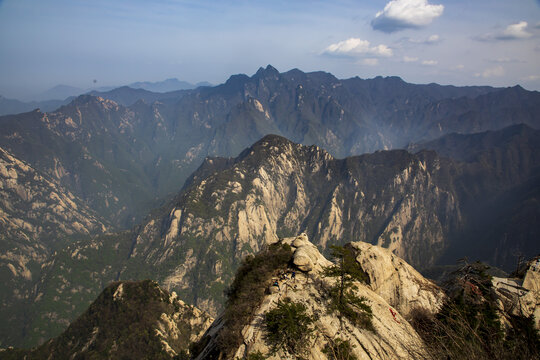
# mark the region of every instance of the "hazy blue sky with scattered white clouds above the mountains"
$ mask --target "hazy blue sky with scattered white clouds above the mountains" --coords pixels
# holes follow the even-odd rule
[[[540,90],[540,0],[0,0],[8,98],[268,64]]]

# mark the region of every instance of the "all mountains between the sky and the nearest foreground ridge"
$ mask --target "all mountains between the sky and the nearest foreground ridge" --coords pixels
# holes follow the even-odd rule
[[[61,333],[118,280],[216,316],[241,260],[300,232],[323,254],[364,241],[420,270],[510,271],[540,251],[539,110],[519,86],[268,66],[1,116],[0,344]]]

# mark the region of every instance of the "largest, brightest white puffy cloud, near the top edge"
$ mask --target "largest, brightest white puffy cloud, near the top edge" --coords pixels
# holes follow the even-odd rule
[[[391,0],[375,15],[371,26],[388,33],[419,28],[430,24],[443,11],[443,5],[431,5],[428,0]]]

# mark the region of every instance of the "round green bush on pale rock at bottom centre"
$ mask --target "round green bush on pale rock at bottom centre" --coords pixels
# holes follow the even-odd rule
[[[299,358],[309,349],[315,317],[306,313],[306,306],[289,298],[279,301],[277,307],[264,316],[266,342],[272,353],[284,350]]]

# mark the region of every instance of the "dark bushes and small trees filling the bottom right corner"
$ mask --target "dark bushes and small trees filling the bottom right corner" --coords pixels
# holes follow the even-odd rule
[[[450,298],[435,316],[411,314],[411,324],[424,339],[431,359],[538,359],[540,336],[531,318],[499,320],[496,296],[487,267],[467,265],[456,272]]]

